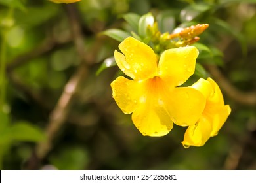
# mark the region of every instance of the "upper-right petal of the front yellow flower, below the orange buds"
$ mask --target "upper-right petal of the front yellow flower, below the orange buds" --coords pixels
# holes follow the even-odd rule
[[[180,86],[193,75],[197,57],[194,46],[165,50],[158,63],[158,75],[171,86]]]

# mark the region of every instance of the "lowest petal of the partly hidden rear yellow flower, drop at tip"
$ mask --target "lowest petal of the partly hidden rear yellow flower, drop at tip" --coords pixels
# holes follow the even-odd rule
[[[203,146],[210,138],[211,122],[207,118],[200,118],[198,123],[190,125],[184,134],[184,141],[181,142],[185,148],[189,146]]]

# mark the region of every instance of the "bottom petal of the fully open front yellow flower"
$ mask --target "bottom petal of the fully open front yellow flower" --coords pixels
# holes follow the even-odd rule
[[[160,137],[173,129],[173,122],[163,105],[149,101],[137,107],[132,120],[142,135]]]

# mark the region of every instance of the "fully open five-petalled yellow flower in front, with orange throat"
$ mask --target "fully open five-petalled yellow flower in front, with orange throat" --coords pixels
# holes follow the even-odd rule
[[[173,128],[195,124],[205,107],[202,93],[179,87],[194,73],[194,46],[165,50],[158,56],[150,46],[128,37],[114,52],[118,67],[132,80],[119,76],[111,84],[113,97],[143,135],[163,136]]]

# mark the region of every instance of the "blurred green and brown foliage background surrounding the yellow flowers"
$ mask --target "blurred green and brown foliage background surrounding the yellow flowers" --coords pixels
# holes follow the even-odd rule
[[[131,12],[161,31],[209,24],[194,77],[211,76],[232,112],[205,146],[183,148],[185,127],[142,136],[112,99],[119,69],[96,75],[119,44],[100,33],[129,31]],[[252,0],[0,0],[1,169],[256,169],[255,22]]]

